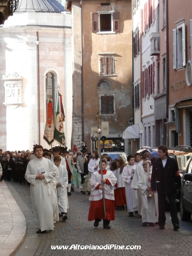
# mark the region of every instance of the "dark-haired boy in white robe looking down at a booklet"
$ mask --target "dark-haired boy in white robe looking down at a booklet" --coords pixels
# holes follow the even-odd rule
[[[128,165],[124,167],[122,172],[122,178],[125,182],[125,195],[127,200],[127,210],[129,217],[133,217],[133,212],[138,214],[137,211],[137,190],[131,188],[133,175],[136,169],[134,165],[134,157],[127,156]]]

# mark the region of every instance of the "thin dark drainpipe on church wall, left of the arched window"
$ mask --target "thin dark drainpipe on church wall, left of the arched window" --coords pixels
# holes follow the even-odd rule
[[[37,42],[39,42],[39,32],[37,31],[36,33],[37,36]],[[39,76],[39,43],[37,44],[37,92],[38,92],[38,97],[37,97],[37,105],[38,105],[38,124],[39,124],[39,129],[38,129],[38,144],[41,145],[41,118],[40,118],[40,76]]]

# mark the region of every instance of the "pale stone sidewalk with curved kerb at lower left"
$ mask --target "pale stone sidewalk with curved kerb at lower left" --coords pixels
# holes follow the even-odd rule
[[[4,181],[0,182],[0,254],[15,255],[23,244],[26,220]]]

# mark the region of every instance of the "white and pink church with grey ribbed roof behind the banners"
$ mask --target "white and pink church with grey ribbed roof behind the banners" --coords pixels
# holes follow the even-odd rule
[[[56,105],[60,85],[65,136],[71,146],[71,13],[56,0],[20,0],[0,26],[0,145],[32,150],[43,140],[47,101]],[[53,143],[54,146],[58,145]]]

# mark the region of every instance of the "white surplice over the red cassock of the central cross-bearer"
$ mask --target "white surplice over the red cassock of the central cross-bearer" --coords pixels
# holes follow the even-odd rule
[[[115,200],[113,186],[116,184],[117,179],[112,171],[107,171],[103,174],[103,179],[108,179],[111,185],[103,184],[105,198],[109,200]],[[101,189],[95,189],[99,184],[101,184],[101,174],[96,171],[92,174],[90,179],[91,195],[89,197],[90,201],[98,201],[103,198],[103,191]]]

